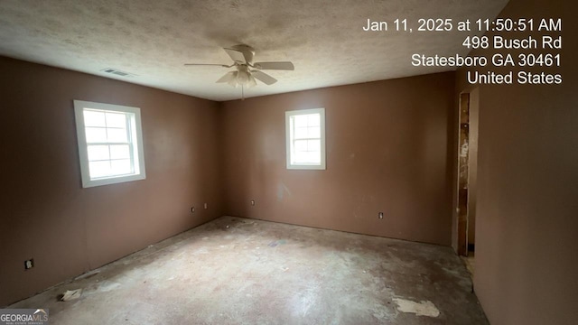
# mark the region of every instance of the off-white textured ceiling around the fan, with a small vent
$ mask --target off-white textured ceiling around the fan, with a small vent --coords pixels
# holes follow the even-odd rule
[[[411,65],[411,55],[466,55],[476,32],[415,32],[419,18],[494,18],[508,0],[3,0],[0,55],[212,100],[241,98],[215,83],[228,70],[223,47],[256,49],[256,61],[291,60],[294,71],[245,97],[453,70]],[[368,18],[388,32],[364,32]],[[393,32],[407,19],[414,32]],[[479,33],[478,33],[479,34]],[[119,77],[113,68],[133,74]]]

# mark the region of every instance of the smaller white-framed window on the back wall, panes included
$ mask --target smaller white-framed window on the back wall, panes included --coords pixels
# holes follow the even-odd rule
[[[287,169],[325,169],[325,108],[285,112]]]

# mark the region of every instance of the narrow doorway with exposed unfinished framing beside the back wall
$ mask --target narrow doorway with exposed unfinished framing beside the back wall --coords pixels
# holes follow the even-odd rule
[[[479,90],[460,94],[458,145],[458,255],[473,275],[476,241]]]

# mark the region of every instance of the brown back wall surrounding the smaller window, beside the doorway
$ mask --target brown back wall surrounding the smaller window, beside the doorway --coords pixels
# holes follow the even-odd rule
[[[449,246],[453,78],[223,103],[225,212]],[[289,171],[284,112],[315,107],[325,107],[327,170]]]

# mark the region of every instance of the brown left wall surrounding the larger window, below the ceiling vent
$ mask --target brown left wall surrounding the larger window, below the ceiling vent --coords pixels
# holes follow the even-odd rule
[[[6,58],[0,71],[0,306],[222,214],[218,103]],[[82,189],[73,99],[141,108],[146,180]]]

